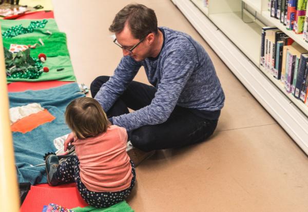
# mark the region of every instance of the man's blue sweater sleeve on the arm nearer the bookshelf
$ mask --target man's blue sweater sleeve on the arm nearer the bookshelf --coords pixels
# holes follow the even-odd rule
[[[113,117],[113,124],[130,131],[144,125],[161,124],[169,118],[186,82],[198,64],[196,49],[187,41],[174,44],[165,52],[162,64],[162,78],[151,104],[134,112]]]

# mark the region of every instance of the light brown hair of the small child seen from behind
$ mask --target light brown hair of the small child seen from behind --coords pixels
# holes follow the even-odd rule
[[[89,97],[78,98],[69,103],[65,111],[65,121],[78,139],[98,136],[108,127],[102,106]]]

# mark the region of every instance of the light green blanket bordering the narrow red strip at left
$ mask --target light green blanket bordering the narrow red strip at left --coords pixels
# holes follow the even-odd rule
[[[49,68],[49,72],[43,73],[40,78],[29,80],[29,79],[18,79],[18,78],[7,78],[7,83],[12,82],[37,82],[37,81],[49,81],[49,80],[60,80],[60,81],[76,81],[73,67],[69,56],[55,56],[47,57],[46,62],[43,66]],[[57,71],[59,68],[64,68],[62,71]]]

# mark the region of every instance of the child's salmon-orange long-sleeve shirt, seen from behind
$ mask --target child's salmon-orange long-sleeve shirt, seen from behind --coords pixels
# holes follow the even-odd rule
[[[132,173],[126,152],[126,129],[111,125],[97,137],[72,144],[80,162],[80,178],[91,191],[120,191],[130,186]]]

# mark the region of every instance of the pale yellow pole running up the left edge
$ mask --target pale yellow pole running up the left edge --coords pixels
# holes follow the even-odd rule
[[[0,28],[0,211],[20,210],[12,132],[9,119],[9,99],[5,59]]]

